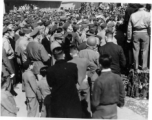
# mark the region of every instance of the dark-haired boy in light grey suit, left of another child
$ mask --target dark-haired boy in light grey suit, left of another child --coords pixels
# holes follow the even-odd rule
[[[38,85],[36,78],[32,72],[33,65],[32,62],[26,61],[23,64],[25,69],[22,74],[23,84],[25,87],[25,95],[27,102],[27,116],[28,117],[38,117],[39,116],[39,102],[41,99],[41,94],[38,92]]]

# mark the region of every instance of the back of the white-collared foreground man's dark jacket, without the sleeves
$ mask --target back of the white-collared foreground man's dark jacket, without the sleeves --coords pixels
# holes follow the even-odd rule
[[[121,78],[112,72],[102,72],[101,76],[95,81],[101,89],[100,104],[108,105],[119,101],[119,88]]]

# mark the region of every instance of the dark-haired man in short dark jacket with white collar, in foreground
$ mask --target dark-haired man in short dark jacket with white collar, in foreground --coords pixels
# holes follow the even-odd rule
[[[103,54],[99,58],[103,69],[94,84],[93,118],[117,119],[117,106],[124,106],[124,85],[121,77],[111,72],[111,61],[112,58],[108,54]]]

